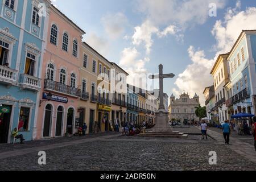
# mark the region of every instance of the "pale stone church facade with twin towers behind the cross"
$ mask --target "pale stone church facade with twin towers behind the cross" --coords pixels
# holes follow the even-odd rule
[[[185,92],[180,94],[180,98],[175,98],[172,94],[168,107],[170,121],[175,119],[183,124],[198,121],[199,118],[196,117],[195,107],[199,106],[199,104],[199,96],[197,94],[193,98],[190,98]]]

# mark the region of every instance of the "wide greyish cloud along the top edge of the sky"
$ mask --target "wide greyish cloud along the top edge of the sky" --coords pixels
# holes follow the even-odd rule
[[[209,18],[209,4],[216,3],[217,9],[226,5],[226,0],[137,0],[138,10],[146,13],[155,24],[176,22],[183,27],[191,24],[203,24]]]

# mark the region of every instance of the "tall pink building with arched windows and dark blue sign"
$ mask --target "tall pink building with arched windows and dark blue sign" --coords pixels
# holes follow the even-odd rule
[[[49,7],[34,139],[60,137],[76,131],[77,104],[81,97],[79,65],[83,34],[85,32],[56,7]]]

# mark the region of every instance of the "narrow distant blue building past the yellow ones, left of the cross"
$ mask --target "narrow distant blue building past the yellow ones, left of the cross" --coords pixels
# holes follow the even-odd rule
[[[138,123],[138,100],[138,94],[134,92],[133,86],[127,85],[127,122]]]

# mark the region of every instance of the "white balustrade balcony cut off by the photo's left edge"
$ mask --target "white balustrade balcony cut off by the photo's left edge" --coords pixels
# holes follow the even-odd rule
[[[15,69],[10,69],[0,65],[0,82],[7,85],[15,84],[17,73],[18,71]]]

